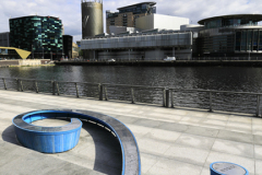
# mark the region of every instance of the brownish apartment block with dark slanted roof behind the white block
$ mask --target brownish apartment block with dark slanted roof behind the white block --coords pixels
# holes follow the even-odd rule
[[[109,26],[127,26],[136,27],[136,19],[156,13],[156,2],[141,2],[122,8],[118,8],[119,12],[106,11],[106,31],[111,33]]]

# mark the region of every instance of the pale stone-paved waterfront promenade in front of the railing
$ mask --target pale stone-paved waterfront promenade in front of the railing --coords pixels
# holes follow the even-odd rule
[[[252,115],[4,90],[0,90],[0,174],[120,174],[117,139],[91,122],[84,124],[80,142],[71,151],[41,154],[20,147],[12,118],[48,108],[94,110],[124,122],[138,140],[142,174],[209,175],[209,165],[216,161],[240,164],[251,175],[262,174],[262,119]],[[56,124],[67,122],[46,121]]]

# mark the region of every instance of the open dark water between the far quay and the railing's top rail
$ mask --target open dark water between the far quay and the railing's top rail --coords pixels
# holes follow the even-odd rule
[[[14,67],[0,77],[262,92],[262,68],[238,67]]]

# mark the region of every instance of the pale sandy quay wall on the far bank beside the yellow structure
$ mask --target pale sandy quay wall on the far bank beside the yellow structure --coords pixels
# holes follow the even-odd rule
[[[50,59],[0,60],[0,67],[26,67],[26,66],[43,66],[50,63],[51,63]]]

